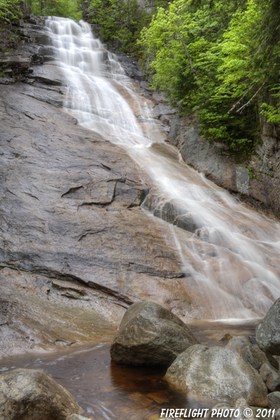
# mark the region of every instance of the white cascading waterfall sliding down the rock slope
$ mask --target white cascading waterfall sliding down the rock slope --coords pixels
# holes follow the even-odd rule
[[[46,26],[68,86],[66,109],[80,125],[126,148],[152,180],[143,207],[171,223],[191,302],[185,315],[263,316],[280,295],[279,224],[237,204],[183,164],[172,146],[154,143],[160,136],[148,108],[89,25],[49,18]],[[123,96],[141,113],[141,125]]]

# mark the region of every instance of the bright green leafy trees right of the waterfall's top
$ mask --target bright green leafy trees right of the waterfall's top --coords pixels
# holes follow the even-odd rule
[[[248,151],[262,97],[279,81],[279,28],[276,0],[175,0],[158,9],[139,42],[154,57],[153,87],[198,110],[207,139]],[[262,113],[280,122],[279,106],[262,105]]]

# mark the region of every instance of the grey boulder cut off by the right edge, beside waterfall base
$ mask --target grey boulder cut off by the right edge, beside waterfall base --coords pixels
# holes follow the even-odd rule
[[[255,328],[255,339],[260,349],[280,356],[280,297]]]

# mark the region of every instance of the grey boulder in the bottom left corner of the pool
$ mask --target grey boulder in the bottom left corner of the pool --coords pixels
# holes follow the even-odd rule
[[[80,410],[73,395],[41,370],[0,375],[0,420],[65,420]]]

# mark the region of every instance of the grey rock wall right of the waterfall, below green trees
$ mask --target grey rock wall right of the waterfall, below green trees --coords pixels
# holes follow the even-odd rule
[[[280,211],[280,141],[274,127],[262,121],[261,141],[251,158],[237,158],[225,144],[209,143],[197,127],[197,116],[172,120],[170,141],[179,147],[183,160],[211,181],[248,201],[258,208]],[[258,202],[255,202],[258,200]]]

